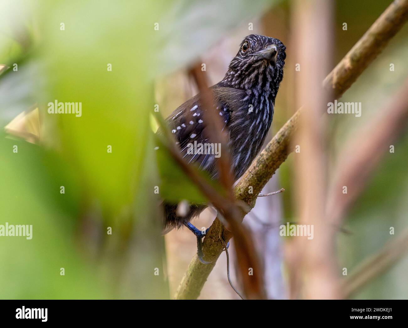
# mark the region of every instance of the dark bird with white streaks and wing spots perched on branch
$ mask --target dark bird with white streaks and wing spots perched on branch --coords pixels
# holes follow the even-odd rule
[[[224,79],[213,85],[213,110],[222,118],[227,132],[234,180],[251,165],[261,150],[272,123],[275,98],[283,78],[285,45],[268,36],[251,34],[242,40],[237,55],[231,60]],[[217,179],[214,152],[191,153],[189,144],[204,145],[210,142],[211,131],[206,125],[206,111],[202,108],[200,94],[180,105],[166,119],[174,134],[180,152],[187,163],[195,163]],[[207,205],[191,205],[185,216],[177,215],[177,204],[164,203],[167,230],[188,227],[197,236],[197,254],[202,263],[201,230],[190,220],[198,216]]]

